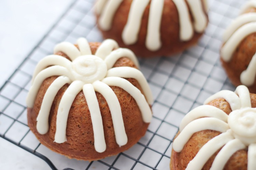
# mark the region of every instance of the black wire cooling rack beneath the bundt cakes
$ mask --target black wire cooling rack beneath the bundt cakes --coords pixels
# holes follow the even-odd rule
[[[42,158],[52,169],[169,169],[172,140],[184,115],[222,89],[234,90],[219,63],[221,36],[245,1],[209,0],[209,24],[198,44],[173,57],[139,59],[154,96],[146,135],[116,156],[87,162],[56,154],[27,126],[25,99],[41,58],[61,41],[102,41],[95,26],[94,0],[75,0],[0,88],[0,137]]]

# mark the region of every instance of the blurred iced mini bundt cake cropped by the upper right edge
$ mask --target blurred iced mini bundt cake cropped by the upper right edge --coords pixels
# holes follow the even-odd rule
[[[256,93],[256,1],[248,1],[223,36],[221,62],[234,86]]]

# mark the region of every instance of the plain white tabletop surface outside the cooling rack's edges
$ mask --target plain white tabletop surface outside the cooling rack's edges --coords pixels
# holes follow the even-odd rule
[[[0,87],[74,0],[0,1]],[[47,170],[40,158],[0,138],[0,169]]]

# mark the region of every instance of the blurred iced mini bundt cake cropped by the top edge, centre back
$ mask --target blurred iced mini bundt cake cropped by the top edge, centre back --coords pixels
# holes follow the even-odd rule
[[[172,55],[195,45],[208,24],[207,0],[98,0],[104,38],[141,57]]]

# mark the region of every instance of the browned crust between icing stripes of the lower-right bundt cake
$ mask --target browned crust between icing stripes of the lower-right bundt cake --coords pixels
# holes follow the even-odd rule
[[[251,96],[251,104],[252,108],[256,107],[256,94],[250,94]],[[229,103],[221,98],[221,99],[215,99],[208,103],[208,105],[215,106],[221,110],[223,110],[227,115],[231,113],[231,108]],[[180,132],[177,133],[179,135]],[[171,162],[170,162],[170,169],[171,170],[184,170],[186,169],[188,163],[190,160],[192,160],[198,151],[201,149],[201,147],[207,143],[209,140],[214,138],[215,136],[221,134],[217,131],[212,130],[203,130],[194,133],[191,138],[188,140],[186,145],[184,146],[183,150],[178,153],[175,152],[172,149],[171,153]],[[175,136],[175,138],[177,137]],[[218,154],[218,152],[221,149],[219,149],[217,152],[215,152],[212,157],[207,161],[207,163],[204,164],[203,170],[209,170],[211,168],[211,165],[213,163],[213,160],[215,156]],[[226,163],[224,170],[247,170],[247,150],[238,150],[235,152]]]

